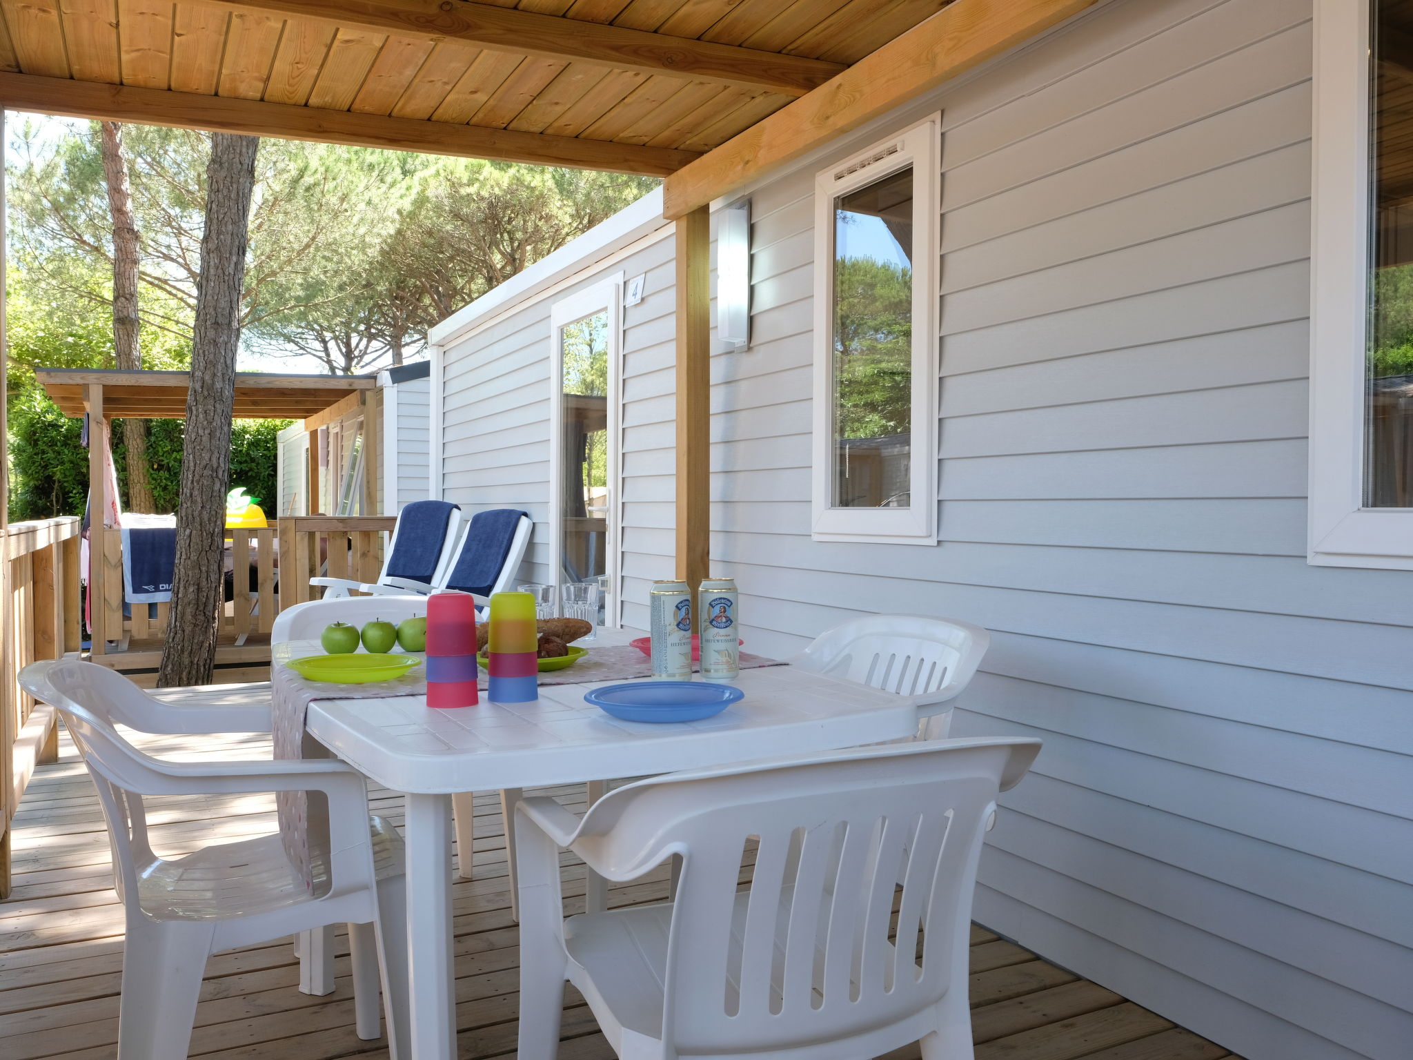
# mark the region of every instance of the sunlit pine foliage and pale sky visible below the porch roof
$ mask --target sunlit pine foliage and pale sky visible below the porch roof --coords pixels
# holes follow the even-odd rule
[[[96,129],[10,116],[11,324],[20,335],[42,331],[48,346],[112,324]],[[141,240],[144,367],[177,367],[191,343],[209,137],[151,126],[124,126],[123,137]],[[274,372],[415,359],[430,325],[656,184],[285,140],[261,140],[256,165],[242,366]]]

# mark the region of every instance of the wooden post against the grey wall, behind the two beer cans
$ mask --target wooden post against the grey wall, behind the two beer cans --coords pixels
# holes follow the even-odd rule
[[[677,577],[692,591],[711,553],[711,208],[677,220]]]

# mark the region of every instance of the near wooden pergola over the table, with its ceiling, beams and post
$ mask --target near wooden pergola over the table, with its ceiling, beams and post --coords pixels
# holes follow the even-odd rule
[[[695,584],[712,201],[1095,1],[0,0],[0,105],[666,177]]]

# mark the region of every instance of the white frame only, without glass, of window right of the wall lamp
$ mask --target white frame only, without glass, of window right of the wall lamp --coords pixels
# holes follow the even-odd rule
[[[820,541],[937,544],[938,235],[941,114],[815,175],[814,389],[810,533]],[[885,154],[886,153],[886,154]],[[834,202],[913,170],[911,457],[909,507],[834,507]]]

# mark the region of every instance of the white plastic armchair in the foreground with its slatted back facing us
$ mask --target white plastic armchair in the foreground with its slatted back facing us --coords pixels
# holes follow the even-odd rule
[[[1039,750],[931,741],[671,773],[582,820],[521,800],[519,1060],[557,1054],[565,981],[622,1060],[859,1060],[910,1042],[971,1057],[976,862],[998,791]],[[613,881],[680,855],[677,899],[564,920],[560,847]]]

